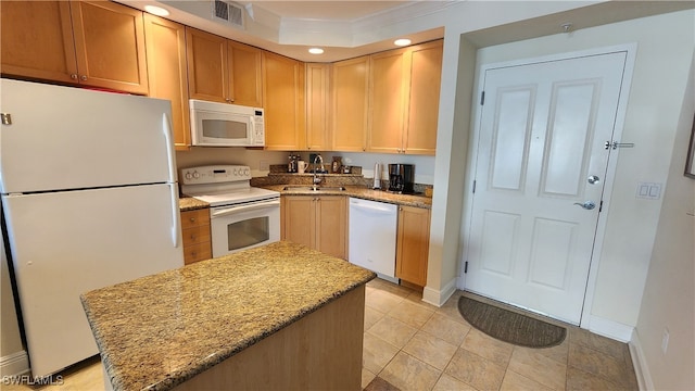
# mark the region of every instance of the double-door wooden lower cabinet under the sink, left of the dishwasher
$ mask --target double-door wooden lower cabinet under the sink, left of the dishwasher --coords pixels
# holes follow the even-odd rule
[[[283,195],[282,239],[346,260],[346,202],[343,195]]]

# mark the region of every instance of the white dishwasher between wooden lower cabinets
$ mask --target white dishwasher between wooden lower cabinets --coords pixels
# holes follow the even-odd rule
[[[394,204],[350,198],[349,261],[395,278],[395,237],[399,207]]]

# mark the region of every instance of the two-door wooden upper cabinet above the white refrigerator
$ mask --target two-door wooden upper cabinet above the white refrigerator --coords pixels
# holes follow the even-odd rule
[[[109,1],[1,7],[2,73],[148,92],[142,12]]]

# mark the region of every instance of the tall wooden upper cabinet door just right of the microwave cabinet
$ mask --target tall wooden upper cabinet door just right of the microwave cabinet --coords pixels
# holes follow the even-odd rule
[[[263,55],[266,149],[302,150],[306,148],[304,63],[267,51]]]

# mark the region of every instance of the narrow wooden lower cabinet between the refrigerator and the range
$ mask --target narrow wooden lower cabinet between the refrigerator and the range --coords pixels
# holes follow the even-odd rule
[[[184,264],[192,264],[213,256],[208,209],[181,212],[181,234]]]

